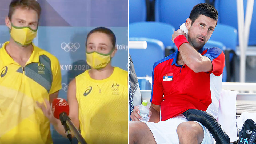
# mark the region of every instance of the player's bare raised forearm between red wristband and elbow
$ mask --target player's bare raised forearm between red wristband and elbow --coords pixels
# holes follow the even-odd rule
[[[183,43],[179,47],[179,52],[184,63],[193,71],[197,71],[200,63],[202,62],[202,56],[195,50],[189,43]]]

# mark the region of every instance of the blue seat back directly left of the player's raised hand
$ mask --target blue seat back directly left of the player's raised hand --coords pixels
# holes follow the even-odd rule
[[[173,47],[171,35],[175,31],[172,25],[161,22],[136,22],[129,25],[129,37],[145,37],[162,41],[164,47]]]

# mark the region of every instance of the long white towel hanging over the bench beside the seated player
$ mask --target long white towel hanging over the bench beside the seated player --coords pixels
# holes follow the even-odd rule
[[[237,91],[221,90],[217,121],[231,142],[237,140],[236,99]]]

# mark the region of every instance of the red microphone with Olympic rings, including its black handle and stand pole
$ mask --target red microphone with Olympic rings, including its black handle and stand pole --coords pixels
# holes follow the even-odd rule
[[[69,105],[67,101],[63,98],[55,98],[51,103],[51,108],[55,118],[61,121],[61,124],[64,126],[67,137],[69,141],[72,141],[72,135],[70,129],[73,131],[75,137],[81,144],[87,144],[85,139],[81,136],[77,128],[71,122],[69,115]],[[72,143],[72,142],[71,142]]]

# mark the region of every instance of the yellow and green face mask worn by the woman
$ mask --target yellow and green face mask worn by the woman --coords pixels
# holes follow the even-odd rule
[[[115,49],[112,49],[110,53],[108,54],[102,54],[98,53],[96,51],[93,52],[87,52],[86,51],[86,62],[88,65],[90,65],[93,69],[102,69],[107,66],[107,64],[110,63],[111,57],[110,54]]]

